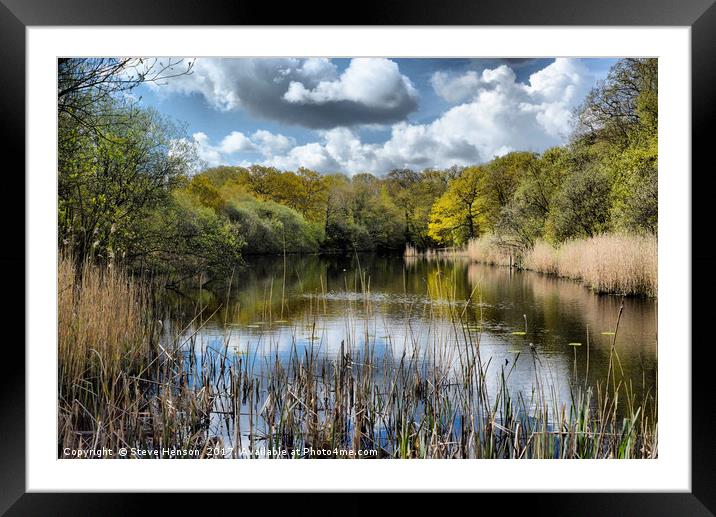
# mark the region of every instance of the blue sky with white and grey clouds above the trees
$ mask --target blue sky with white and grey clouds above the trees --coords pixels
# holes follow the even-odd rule
[[[373,172],[563,143],[613,59],[209,59],[143,85],[208,165]]]

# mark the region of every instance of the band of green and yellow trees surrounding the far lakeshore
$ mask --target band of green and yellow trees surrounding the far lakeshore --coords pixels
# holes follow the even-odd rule
[[[242,257],[507,247],[657,229],[655,59],[623,59],[576,110],[569,142],[470,167],[348,176],[202,168],[181,126],[131,91],[191,63],[59,62],[59,239],[78,261],[190,275]]]

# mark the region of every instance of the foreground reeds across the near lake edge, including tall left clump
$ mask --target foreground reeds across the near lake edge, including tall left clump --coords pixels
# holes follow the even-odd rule
[[[354,309],[368,318],[370,281],[360,275]],[[445,301],[429,308],[429,346],[411,337],[396,354],[377,354],[355,314],[334,348],[299,347],[294,335],[281,354],[233,351],[228,333],[220,345],[203,342],[202,313],[160,336],[148,293],[125,273],[86,265],[78,276],[61,260],[60,282],[60,448],[190,447],[234,458],[265,456],[262,447],[301,458],[657,455],[654,395],[636,399],[614,347],[606,379],[575,382],[568,402],[538,373],[532,391],[513,393],[518,361],[542,368],[538,347],[512,365],[483,358],[481,331],[442,275],[428,286]]]

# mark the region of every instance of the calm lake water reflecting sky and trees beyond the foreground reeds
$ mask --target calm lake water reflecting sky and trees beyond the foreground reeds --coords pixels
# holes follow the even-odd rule
[[[575,388],[596,389],[610,368],[635,400],[655,396],[656,301],[626,298],[620,316],[621,297],[572,280],[462,259],[288,255],[251,257],[230,287],[186,294],[172,298],[165,320],[179,336],[173,339],[193,361],[212,350],[259,378],[295,357],[337,361],[341,350],[369,356],[381,372],[406,357],[459,369],[470,349],[479,354],[490,393],[503,383],[529,405],[541,385],[550,411],[568,405]],[[173,323],[177,315],[181,325]],[[260,390],[255,398],[257,409],[266,404]],[[260,427],[247,418],[256,418],[253,410],[242,417],[245,436]],[[226,419],[212,422],[216,434],[231,439]]]

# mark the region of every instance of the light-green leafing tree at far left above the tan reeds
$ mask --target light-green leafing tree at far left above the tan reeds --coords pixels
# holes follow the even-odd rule
[[[106,101],[98,113],[121,112],[89,131],[63,120],[58,148],[59,237],[78,260],[92,254],[111,258],[133,254],[125,230],[164,202],[177,180],[188,173],[193,148],[156,112]]]

